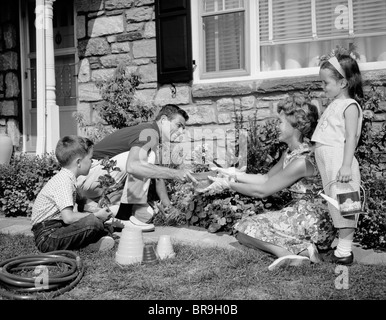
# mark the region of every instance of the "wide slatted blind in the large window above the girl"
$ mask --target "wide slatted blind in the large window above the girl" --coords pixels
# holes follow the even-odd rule
[[[385,34],[386,1],[260,0],[259,27],[261,45]]]

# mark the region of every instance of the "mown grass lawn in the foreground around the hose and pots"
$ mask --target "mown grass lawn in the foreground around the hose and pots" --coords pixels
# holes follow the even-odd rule
[[[77,252],[85,265],[80,282],[55,300],[384,300],[386,268],[348,267],[348,288],[336,266],[316,264],[269,271],[273,257],[252,249],[202,248],[174,243],[176,257],[156,265],[115,263],[115,252]],[[33,238],[0,234],[0,262],[39,254]],[[0,285],[1,287],[1,285]],[[39,293],[37,298],[46,300]],[[1,299],[6,299],[0,296]]]

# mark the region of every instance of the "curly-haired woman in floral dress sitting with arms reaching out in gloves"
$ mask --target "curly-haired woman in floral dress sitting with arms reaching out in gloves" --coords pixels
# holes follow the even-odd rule
[[[251,197],[265,198],[288,188],[293,195],[290,206],[279,211],[249,216],[238,221],[234,228],[237,240],[248,247],[269,252],[278,257],[269,267],[317,263],[319,250],[330,247],[335,229],[327,205],[316,196],[321,179],[311,145],[318,121],[318,109],[300,96],[290,97],[278,104],[279,140],[288,149],[267,174],[245,174],[213,168],[221,177],[201,191],[230,188]]]

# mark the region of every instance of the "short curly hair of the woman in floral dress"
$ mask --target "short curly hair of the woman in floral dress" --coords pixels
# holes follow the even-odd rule
[[[318,108],[307,102],[300,94],[294,94],[277,105],[277,112],[283,112],[292,127],[301,133],[300,139],[311,139],[319,118]]]

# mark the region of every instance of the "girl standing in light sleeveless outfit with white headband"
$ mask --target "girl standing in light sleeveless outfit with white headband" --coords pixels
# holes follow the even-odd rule
[[[359,164],[354,157],[362,129],[362,77],[356,60],[346,53],[336,53],[322,62],[319,71],[327,97],[334,99],[323,112],[311,140],[325,192],[336,199],[339,193],[360,189]],[[329,204],[339,242],[325,261],[349,265],[353,262],[352,241],[358,214],[343,217]]]

